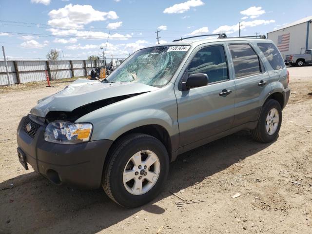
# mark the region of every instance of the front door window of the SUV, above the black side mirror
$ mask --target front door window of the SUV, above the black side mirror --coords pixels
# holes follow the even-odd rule
[[[195,73],[207,74],[209,83],[229,79],[223,46],[209,46],[199,50],[192,59],[187,71],[188,75]]]

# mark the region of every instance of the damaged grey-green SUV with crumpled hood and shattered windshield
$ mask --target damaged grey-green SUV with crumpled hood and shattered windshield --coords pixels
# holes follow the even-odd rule
[[[54,184],[102,186],[137,207],[156,197],[179,154],[243,129],[276,139],[288,83],[267,39],[222,34],[140,49],[107,79],[78,79],[39,100],[20,121],[19,160]]]

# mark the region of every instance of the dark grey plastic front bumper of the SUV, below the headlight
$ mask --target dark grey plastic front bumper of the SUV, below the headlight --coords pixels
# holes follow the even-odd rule
[[[43,123],[39,123],[34,138],[26,134],[23,128],[26,118],[20,121],[17,142],[27,163],[36,172],[59,185],[87,189],[100,187],[104,160],[113,141],[97,140],[73,145],[47,142],[44,140],[46,125]]]

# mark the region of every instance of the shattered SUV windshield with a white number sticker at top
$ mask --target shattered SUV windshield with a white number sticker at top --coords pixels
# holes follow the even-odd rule
[[[135,52],[107,79],[109,82],[138,82],[156,87],[166,85],[190,46],[157,46]]]

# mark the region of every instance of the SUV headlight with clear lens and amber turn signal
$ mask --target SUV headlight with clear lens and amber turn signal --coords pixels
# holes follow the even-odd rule
[[[77,144],[89,141],[91,133],[91,123],[55,121],[46,127],[44,139],[59,144]]]

